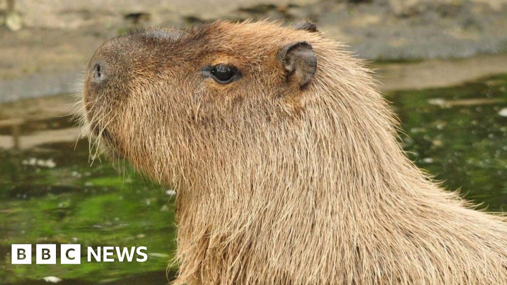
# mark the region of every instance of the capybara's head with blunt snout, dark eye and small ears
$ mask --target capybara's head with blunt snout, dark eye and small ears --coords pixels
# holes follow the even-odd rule
[[[307,105],[325,103],[317,98],[331,76],[319,74],[319,66],[329,64],[319,62],[323,45],[308,23],[130,31],[90,60],[83,91],[87,128],[106,153],[171,184],[203,163],[252,148],[283,153],[301,136]],[[344,76],[342,84],[350,79]]]

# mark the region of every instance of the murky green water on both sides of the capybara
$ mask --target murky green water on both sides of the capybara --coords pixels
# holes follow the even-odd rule
[[[481,207],[507,207],[507,75],[386,96],[419,167]],[[68,139],[74,128],[70,116],[0,124],[0,283],[42,284],[48,276],[59,284],[166,283],[173,192],[128,166],[126,173],[104,161],[90,166],[88,143]],[[13,243],[79,243],[82,263],[12,265]],[[148,261],[86,262],[86,246],[104,245],[147,246]]]

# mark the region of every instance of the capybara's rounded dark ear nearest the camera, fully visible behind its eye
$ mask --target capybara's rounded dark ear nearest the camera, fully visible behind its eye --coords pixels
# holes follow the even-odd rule
[[[297,42],[282,47],[276,55],[285,68],[285,80],[289,85],[305,87],[317,68],[317,59],[308,42]]]

